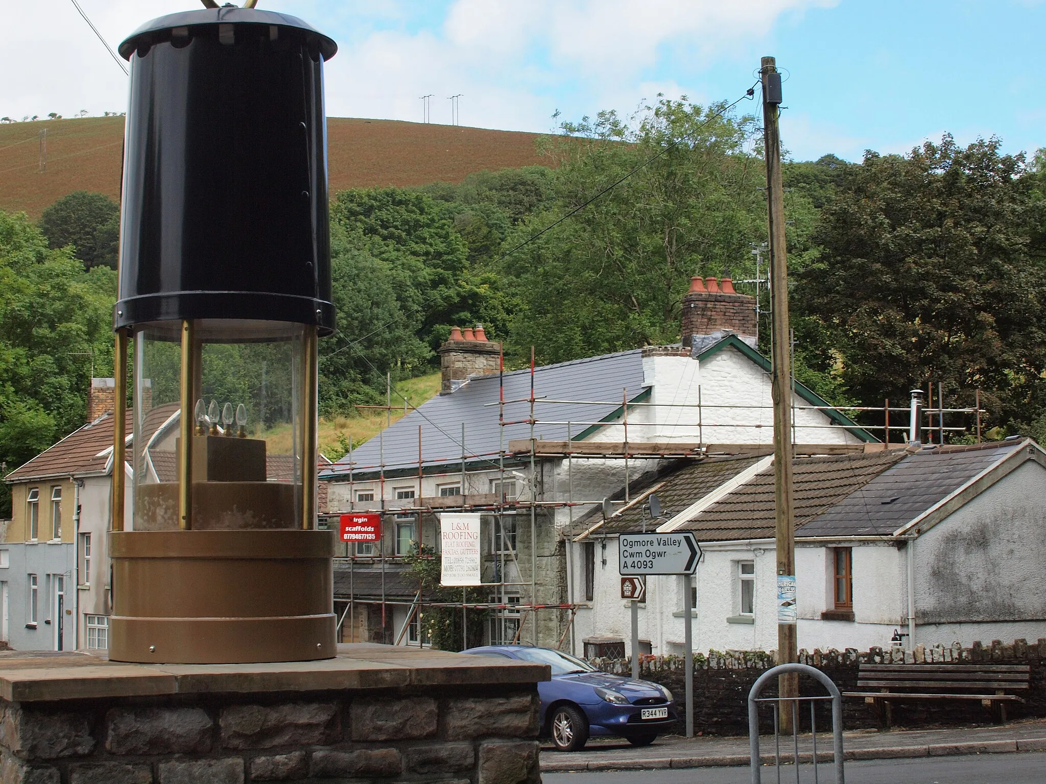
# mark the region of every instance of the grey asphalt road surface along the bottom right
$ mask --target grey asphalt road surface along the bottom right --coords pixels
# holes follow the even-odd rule
[[[566,755],[563,755],[566,757]],[[820,781],[834,781],[831,764],[821,764]],[[802,784],[814,781],[810,765],[800,765]],[[684,770],[624,770],[617,774],[542,774],[545,784],[749,784],[747,767],[702,767]],[[795,768],[781,768],[781,782],[792,784]],[[773,767],[763,768],[764,784],[776,784]],[[922,757],[846,763],[846,784],[1043,784],[1046,753]]]

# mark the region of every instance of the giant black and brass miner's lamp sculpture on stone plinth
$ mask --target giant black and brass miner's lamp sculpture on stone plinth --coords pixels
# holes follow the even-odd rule
[[[232,6],[120,44],[113,660],[335,655],[316,342],[335,324],[322,73],[336,49],[294,17]]]

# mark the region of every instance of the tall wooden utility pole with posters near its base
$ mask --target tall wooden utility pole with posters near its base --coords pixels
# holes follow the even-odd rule
[[[772,396],[774,401],[774,523],[777,537],[777,661],[798,658],[796,639],[795,521],[792,506],[792,384],[788,319],[788,257],[784,248],[784,187],[781,181],[781,145],[777,117],[781,102],[781,76],[773,57],[763,57],[763,139],[767,161],[767,204],[770,224],[770,297],[773,335]],[[798,696],[795,673],[781,675],[778,695]],[[792,707],[782,702],[781,729],[792,731]]]

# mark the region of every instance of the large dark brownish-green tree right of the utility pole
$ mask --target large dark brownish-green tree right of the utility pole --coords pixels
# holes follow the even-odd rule
[[[992,423],[1042,410],[1032,180],[1023,156],[999,147],[945,136],[907,156],[868,152],[837,186],[792,299],[815,370],[866,401],[903,400],[932,381],[951,406],[983,390]]]

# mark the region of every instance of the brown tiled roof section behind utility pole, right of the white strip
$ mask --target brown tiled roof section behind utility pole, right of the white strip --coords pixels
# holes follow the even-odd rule
[[[905,457],[904,449],[864,455],[797,458],[792,462],[796,528],[863,487]],[[697,499],[695,499],[697,501]],[[756,474],[733,492],[677,530],[701,541],[766,538],[774,535],[774,468]],[[802,535],[800,532],[799,535]]]

